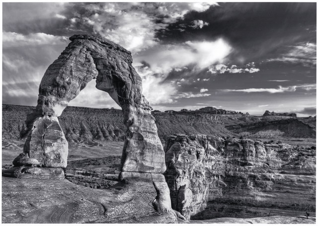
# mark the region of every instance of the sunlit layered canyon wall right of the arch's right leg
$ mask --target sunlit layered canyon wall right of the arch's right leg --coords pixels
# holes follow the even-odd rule
[[[316,211],[315,150],[202,134],[171,135],[164,150],[172,209],[187,219]]]

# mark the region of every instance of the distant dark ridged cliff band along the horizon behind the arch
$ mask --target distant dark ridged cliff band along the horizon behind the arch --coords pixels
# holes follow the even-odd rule
[[[35,107],[2,105],[2,138],[25,139],[27,115]],[[173,133],[202,133],[213,136],[265,139],[266,131],[277,131],[282,137],[316,138],[316,118],[252,116],[210,113],[152,112],[161,140]],[[67,107],[59,118],[69,143],[99,145],[98,141],[123,141],[126,126],[123,112],[117,109]],[[264,134],[263,134],[264,133]],[[266,133],[266,134],[265,134]],[[274,138],[273,136],[269,138]]]

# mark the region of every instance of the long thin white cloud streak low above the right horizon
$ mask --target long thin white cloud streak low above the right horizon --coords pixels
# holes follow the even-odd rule
[[[288,86],[288,87],[278,86],[278,88],[249,88],[249,89],[241,89],[241,90],[221,90],[221,91],[243,92],[243,93],[267,92],[267,93],[275,94],[275,93],[284,93],[284,92],[295,92],[297,89],[303,89],[306,91],[316,90],[316,84],[303,84],[303,85]]]

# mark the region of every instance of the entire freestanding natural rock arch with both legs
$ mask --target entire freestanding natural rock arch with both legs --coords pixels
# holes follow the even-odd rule
[[[169,190],[162,175],[166,169],[164,151],[151,114],[152,108],[142,95],[142,79],[132,66],[131,53],[94,35],[73,35],[70,40],[72,42],[42,78],[23,156],[27,153],[29,158],[39,161],[41,167],[38,170],[51,168],[49,173],[53,174],[57,171],[52,168],[67,166],[68,142],[58,116],[88,82],[96,79],[96,88],[107,92],[124,112],[127,130],[120,179],[152,181],[158,194],[155,208],[171,210]],[[44,175],[41,170],[40,173],[34,170],[27,173]],[[19,173],[22,171],[19,169]]]

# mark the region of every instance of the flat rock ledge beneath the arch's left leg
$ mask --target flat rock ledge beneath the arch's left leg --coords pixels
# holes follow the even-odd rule
[[[18,166],[2,171],[4,177],[15,177],[20,179],[64,179],[62,168],[42,168]]]

